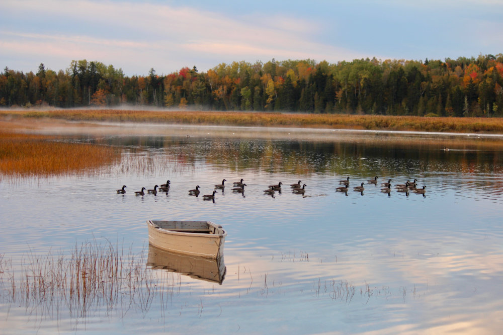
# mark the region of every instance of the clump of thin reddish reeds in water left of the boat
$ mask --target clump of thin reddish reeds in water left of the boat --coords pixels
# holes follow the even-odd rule
[[[25,306],[36,315],[60,317],[67,311],[70,318],[86,318],[102,309],[115,310],[120,317],[130,309],[146,313],[154,298],[166,307],[181,278],[149,270],[144,260],[144,250],[125,254],[118,242],[98,241],[76,245],[71,255],[40,256],[30,250],[16,270],[12,260],[0,255],[0,303]]]

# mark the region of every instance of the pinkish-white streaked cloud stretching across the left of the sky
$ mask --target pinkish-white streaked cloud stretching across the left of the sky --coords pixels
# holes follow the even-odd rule
[[[154,3],[86,0],[7,0],[2,6],[11,15],[34,21],[33,26],[0,26],[3,50],[9,50],[0,58],[4,62],[30,57],[38,64],[41,56],[66,58],[64,68],[72,59],[86,58],[114,66],[119,62],[126,73],[150,67],[169,73],[193,64],[207,70],[231,60],[363,57],[316,42],[319,24],[293,16],[229,17]]]

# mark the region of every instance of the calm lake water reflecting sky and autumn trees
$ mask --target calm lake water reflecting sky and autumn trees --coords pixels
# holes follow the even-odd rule
[[[92,174],[2,179],[0,332],[500,333],[502,138],[102,128],[66,129],[62,140],[117,146],[120,162]],[[348,176],[348,193],[336,192]],[[367,184],[374,176],[378,185]],[[241,178],[244,194],[232,192]],[[188,195],[196,185],[209,194],[222,179],[214,202]],[[417,179],[427,192],[381,193],[388,179]],[[167,194],[134,195],[166,180]],[[298,180],[304,196],[290,191]],[[264,195],[280,181],[281,194]],[[362,182],[363,193],[353,191]],[[116,194],[122,185],[127,193]],[[147,266],[147,219],[221,224],[223,280]],[[82,310],[12,297],[10,274],[21,280],[35,259],[71,256],[86,243],[132,255],[154,285],[120,290],[109,303],[98,295]]]

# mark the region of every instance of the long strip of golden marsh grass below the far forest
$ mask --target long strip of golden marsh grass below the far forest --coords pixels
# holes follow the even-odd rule
[[[71,121],[153,122],[192,125],[306,127],[330,129],[408,130],[430,132],[503,133],[502,118],[186,112],[141,110],[0,111],[0,116]]]

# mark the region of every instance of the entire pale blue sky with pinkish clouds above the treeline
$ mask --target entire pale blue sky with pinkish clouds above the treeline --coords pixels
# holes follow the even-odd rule
[[[503,53],[503,0],[1,0],[0,66],[100,61],[126,75],[288,59]]]

